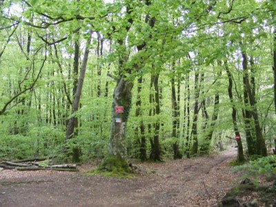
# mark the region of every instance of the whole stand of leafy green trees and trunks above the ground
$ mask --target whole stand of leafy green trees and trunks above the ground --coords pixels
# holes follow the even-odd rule
[[[1,0],[0,157],[274,148],[273,0]],[[111,168],[112,169],[112,168]]]

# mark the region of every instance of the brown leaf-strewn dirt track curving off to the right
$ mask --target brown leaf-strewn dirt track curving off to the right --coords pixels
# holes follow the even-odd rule
[[[238,175],[227,152],[140,164],[155,175],[135,179],[92,176],[79,172],[0,172],[0,206],[217,206]]]

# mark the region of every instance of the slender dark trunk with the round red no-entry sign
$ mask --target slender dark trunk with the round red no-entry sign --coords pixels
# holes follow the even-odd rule
[[[225,70],[227,72],[228,75],[228,95],[229,95],[229,99],[230,102],[232,104],[232,121],[233,121],[233,126],[234,126],[234,131],[235,131],[235,135],[236,137],[241,137],[239,135],[239,128],[237,126],[237,108],[235,106],[234,103],[234,99],[233,99],[233,92],[232,92],[232,88],[233,88],[233,77],[230,73],[230,70],[227,66],[227,63],[225,63]],[[244,162],[244,150],[243,150],[243,146],[242,146],[242,139],[236,139],[237,141],[237,162],[242,163]]]

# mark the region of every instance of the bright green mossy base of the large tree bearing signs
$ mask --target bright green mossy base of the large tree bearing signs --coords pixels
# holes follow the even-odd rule
[[[135,174],[128,166],[126,159],[117,155],[108,155],[95,170],[90,170],[87,175],[102,175],[104,177],[133,178]]]

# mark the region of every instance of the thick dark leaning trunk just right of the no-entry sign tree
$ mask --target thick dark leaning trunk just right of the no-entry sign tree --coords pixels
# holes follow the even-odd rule
[[[251,91],[249,77],[248,77],[248,58],[244,50],[242,50],[242,58],[243,58],[242,66],[244,68],[244,81],[246,83],[248,99],[249,99],[250,106],[252,108],[252,115],[253,115],[253,120],[255,124],[255,133],[256,133],[255,151],[257,155],[267,156],[266,143],[262,135],[261,127],[259,126],[259,117],[257,112],[257,106],[255,104],[255,97],[253,95],[253,92]]]

